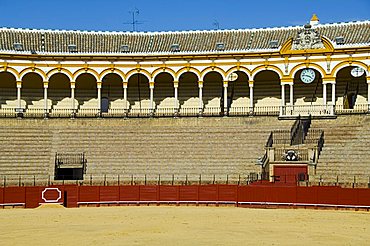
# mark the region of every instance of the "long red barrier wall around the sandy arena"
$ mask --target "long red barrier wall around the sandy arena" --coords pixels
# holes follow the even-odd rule
[[[44,198],[44,199],[43,199]],[[51,186],[0,188],[2,206],[34,208],[40,203],[58,202],[67,207],[79,204],[127,202],[230,202],[289,203],[290,205],[348,205],[370,208],[370,189],[341,188],[335,186]]]

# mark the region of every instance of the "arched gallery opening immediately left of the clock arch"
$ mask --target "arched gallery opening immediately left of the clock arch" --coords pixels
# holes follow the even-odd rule
[[[285,94],[287,94],[285,86]],[[278,114],[281,105],[281,83],[279,75],[270,70],[256,74],[253,83],[253,104],[255,114]]]

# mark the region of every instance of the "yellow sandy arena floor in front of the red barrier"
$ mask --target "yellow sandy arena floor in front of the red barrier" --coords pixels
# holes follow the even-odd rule
[[[236,207],[0,209],[0,245],[369,245],[370,213]]]

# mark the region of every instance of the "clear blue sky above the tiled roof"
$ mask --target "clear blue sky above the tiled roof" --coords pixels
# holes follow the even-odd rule
[[[67,30],[204,30],[370,20],[370,0],[0,0],[0,26]]]

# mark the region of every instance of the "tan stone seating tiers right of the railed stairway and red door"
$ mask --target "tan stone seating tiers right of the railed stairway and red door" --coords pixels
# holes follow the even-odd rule
[[[368,183],[369,123],[369,117],[363,115],[314,121],[313,129],[325,131],[325,146],[313,178],[333,183]]]

